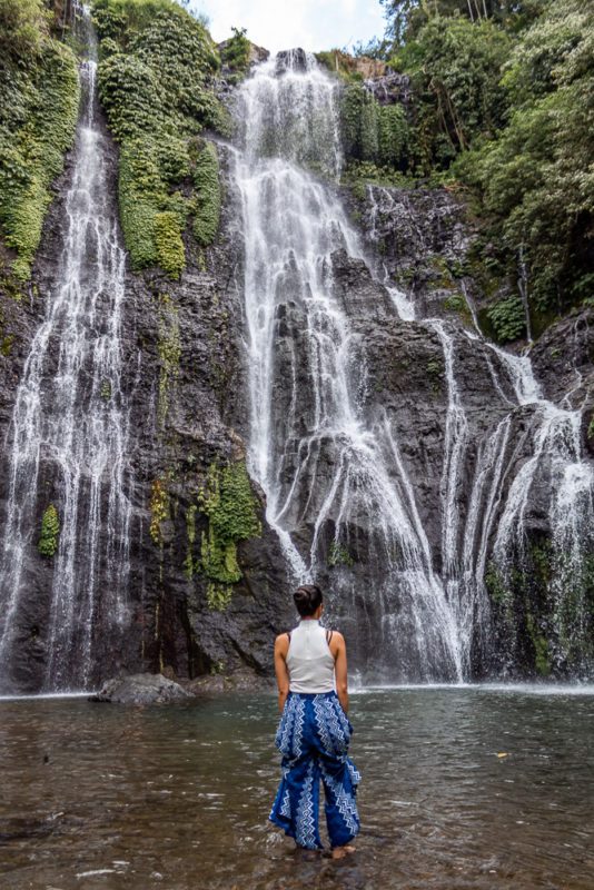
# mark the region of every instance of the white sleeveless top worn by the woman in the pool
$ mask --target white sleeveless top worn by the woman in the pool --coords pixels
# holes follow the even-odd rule
[[[334,692],[334,655],[319,621],[300,621],[291,631],[287,653],[291,692]]]

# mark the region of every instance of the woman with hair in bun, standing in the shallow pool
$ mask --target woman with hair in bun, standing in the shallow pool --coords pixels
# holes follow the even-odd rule
[[[355,794],[360,775],[347,756],[347,660],[343,634],[319,623],[321,591],[304,584],[294,593],[300,622],[275,642],[280,724],[276,744],[283,754],[283,780],[270,821],[298,847],[321,848],[318,828],[319,780],[333,858],[353,852],[359,830]]]

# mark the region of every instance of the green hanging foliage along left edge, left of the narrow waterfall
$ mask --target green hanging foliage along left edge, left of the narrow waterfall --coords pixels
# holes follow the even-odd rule
[[[0,0],[0,21],[10,9]],[[33,37],[39,51],[30,46]],[[6,39],[12,42],[0,53],[0,224],[17,253],[12,270],[26,280],[52,200],[49,187],[73,141],[79,82],[75,55],[47,36],[40,4],[21,4]]]

